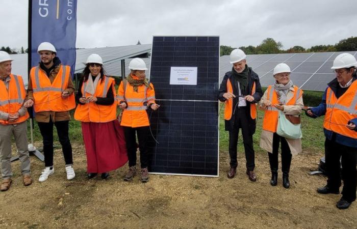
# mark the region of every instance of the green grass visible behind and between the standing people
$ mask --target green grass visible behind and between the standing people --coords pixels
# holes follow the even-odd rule
[[[316,106],[319,104],[319,101],[321,100],[322,97],[322,92],[313,92],[313,91],[305,91],[303,98],[304,98],[304,103],[307,106]],[[223,106],[223,107],[221,107]],[[219,146],[221,151],[228,151],[228,131],[224,131],[224,120],[223,120],[223,113],[224,113],[224,104],[221,103],[220,106],[220,119],[219,119]],[[72,120],[69,122],[69,137],[71,142],[76,142],[76,143],[83,143],[83,138],[82,138],[82,128],[81,128],[81,122],[75,121],[73,119],[73,112],[71,111],[71,117]],[[256,133],[253,135],[253,142],[254,142],[254,149],[257,152],[263,152],[259,148],[259,141],[260,141],[260,135],[262,131],[262,121],[263,121],[263,115],[264,112],[261,110],[258,110],[258,120],[257,120],[257,129]],[[34,121],[34,140],[35,141],[42,141],[42,136],[40,134],[40,131],[38,129],[37,122]],[[302,120],[301,120],[301,129],[302,129],[302,149],[303,151],[309,151],[309,152],[323,152],[324,149],[324,135],[323,135],[323,128],[322,128],[322,123],[323,123],[323,117],[318,118],[318,119],[311,119],[305,116],[304,113],[302,113]],[[30,130],[30,122],[28,122],[28,129]],[[56,128],[54,128],[54,140],[58,141],[58,137],[56,134]],[[30,139],[30,131],[28,131],[29,139]],[[241,134],[239,136],[239,148],[243,149],[243,141]]]

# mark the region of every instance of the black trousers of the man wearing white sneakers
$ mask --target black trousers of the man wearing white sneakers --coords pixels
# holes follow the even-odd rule
[[[53,123],[52,119],[49,119],[49,123],[38,122],[38,127],[43,138],[43,154],[45,158],[45,166],[51,167],[54,164],[54,124],[57,129],[58,138],[62,145],[64,161],[66,165],[71,165],[73,164],[73,159],[72,146],[68,137],[69,121],[59,121]]]

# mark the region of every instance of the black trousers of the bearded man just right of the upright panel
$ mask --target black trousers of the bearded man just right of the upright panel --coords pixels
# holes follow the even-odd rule
[[[249,129],[249,120],[247,117],[246,107],[237,107],[235,111],[234,129],[230,131],[229,152],[232,168],[237,168],[237,144],[239,129],[242,129],[243,145],[246,159],[246,167],[249,171],[253,171],[256,166],[254,163],[253,135]]]

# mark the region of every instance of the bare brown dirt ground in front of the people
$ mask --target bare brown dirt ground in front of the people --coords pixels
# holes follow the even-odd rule
[[[11,189],[0,193],[0,228],[357,228],[357,203],[335,207],[341,195],[317,194],[323,176],[310,176],[322,153],[293,158],[291,188],[270,186],[266,153],[256,153],[257,182],[245,175],[239,153],[234,179],[227,179],[228,154],[220,153],[219,178],[150,175],[142,184],[122,178],[127,165],[108,180],[87,180],[84,147],[73,146],[76,177],[66,180],[64,161],[55,152],[55,174],[37,181],[43,163],[32,159],[35,182],[22,185],[19,161],[13,163]]]

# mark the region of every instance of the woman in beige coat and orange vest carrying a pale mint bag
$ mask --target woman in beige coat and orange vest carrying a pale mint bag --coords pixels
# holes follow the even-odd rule
[[[272,186],[277,184],[279,142],[282,145],[283,186],[290,187],[289,171],[292,155],[301,152],[301,139],[290,139],[276,133],[278,112],[298,117],[303,107],[302,91],[290,80],[290,68],[281,63],[274,68],[275,83],[265,91],[260,109],[265,110],[260,147],[268,151]]]

